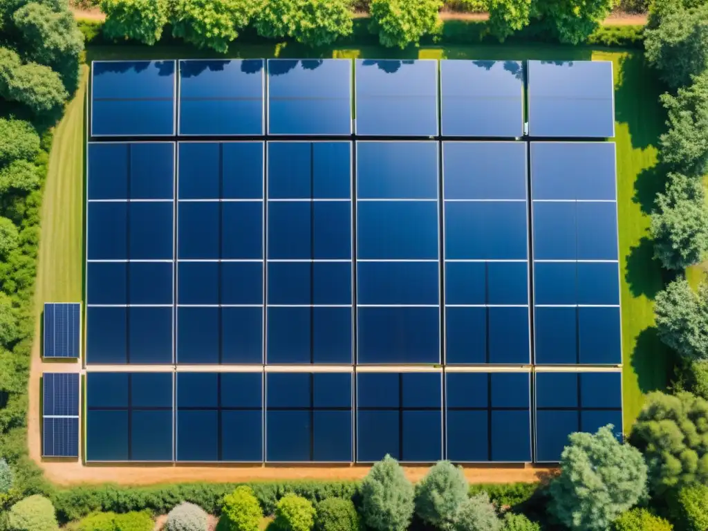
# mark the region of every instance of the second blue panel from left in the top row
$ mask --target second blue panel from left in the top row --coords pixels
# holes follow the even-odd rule
[[[179,135],[263,135],[263,59],[179,62]]]

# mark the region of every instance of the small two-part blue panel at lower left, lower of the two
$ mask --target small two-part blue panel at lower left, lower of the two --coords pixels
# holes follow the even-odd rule
[[[79,457],[79,375],[42,375],[42,457]]]

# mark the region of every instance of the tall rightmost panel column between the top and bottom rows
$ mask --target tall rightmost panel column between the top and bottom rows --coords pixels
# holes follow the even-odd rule
[[[615,144],[532,142],[535,362],[619,364]]]

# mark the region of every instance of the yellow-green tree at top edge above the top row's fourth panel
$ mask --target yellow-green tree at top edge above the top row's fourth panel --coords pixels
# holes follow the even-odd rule
[[[441,0],[371,0],[370,30],[387,47],[418,45],[423,35],[440,28]]]

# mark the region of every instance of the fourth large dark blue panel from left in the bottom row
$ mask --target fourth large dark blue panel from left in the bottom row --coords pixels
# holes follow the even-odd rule
[[[357,374],[357,461],[442,459],[442,372]]]

